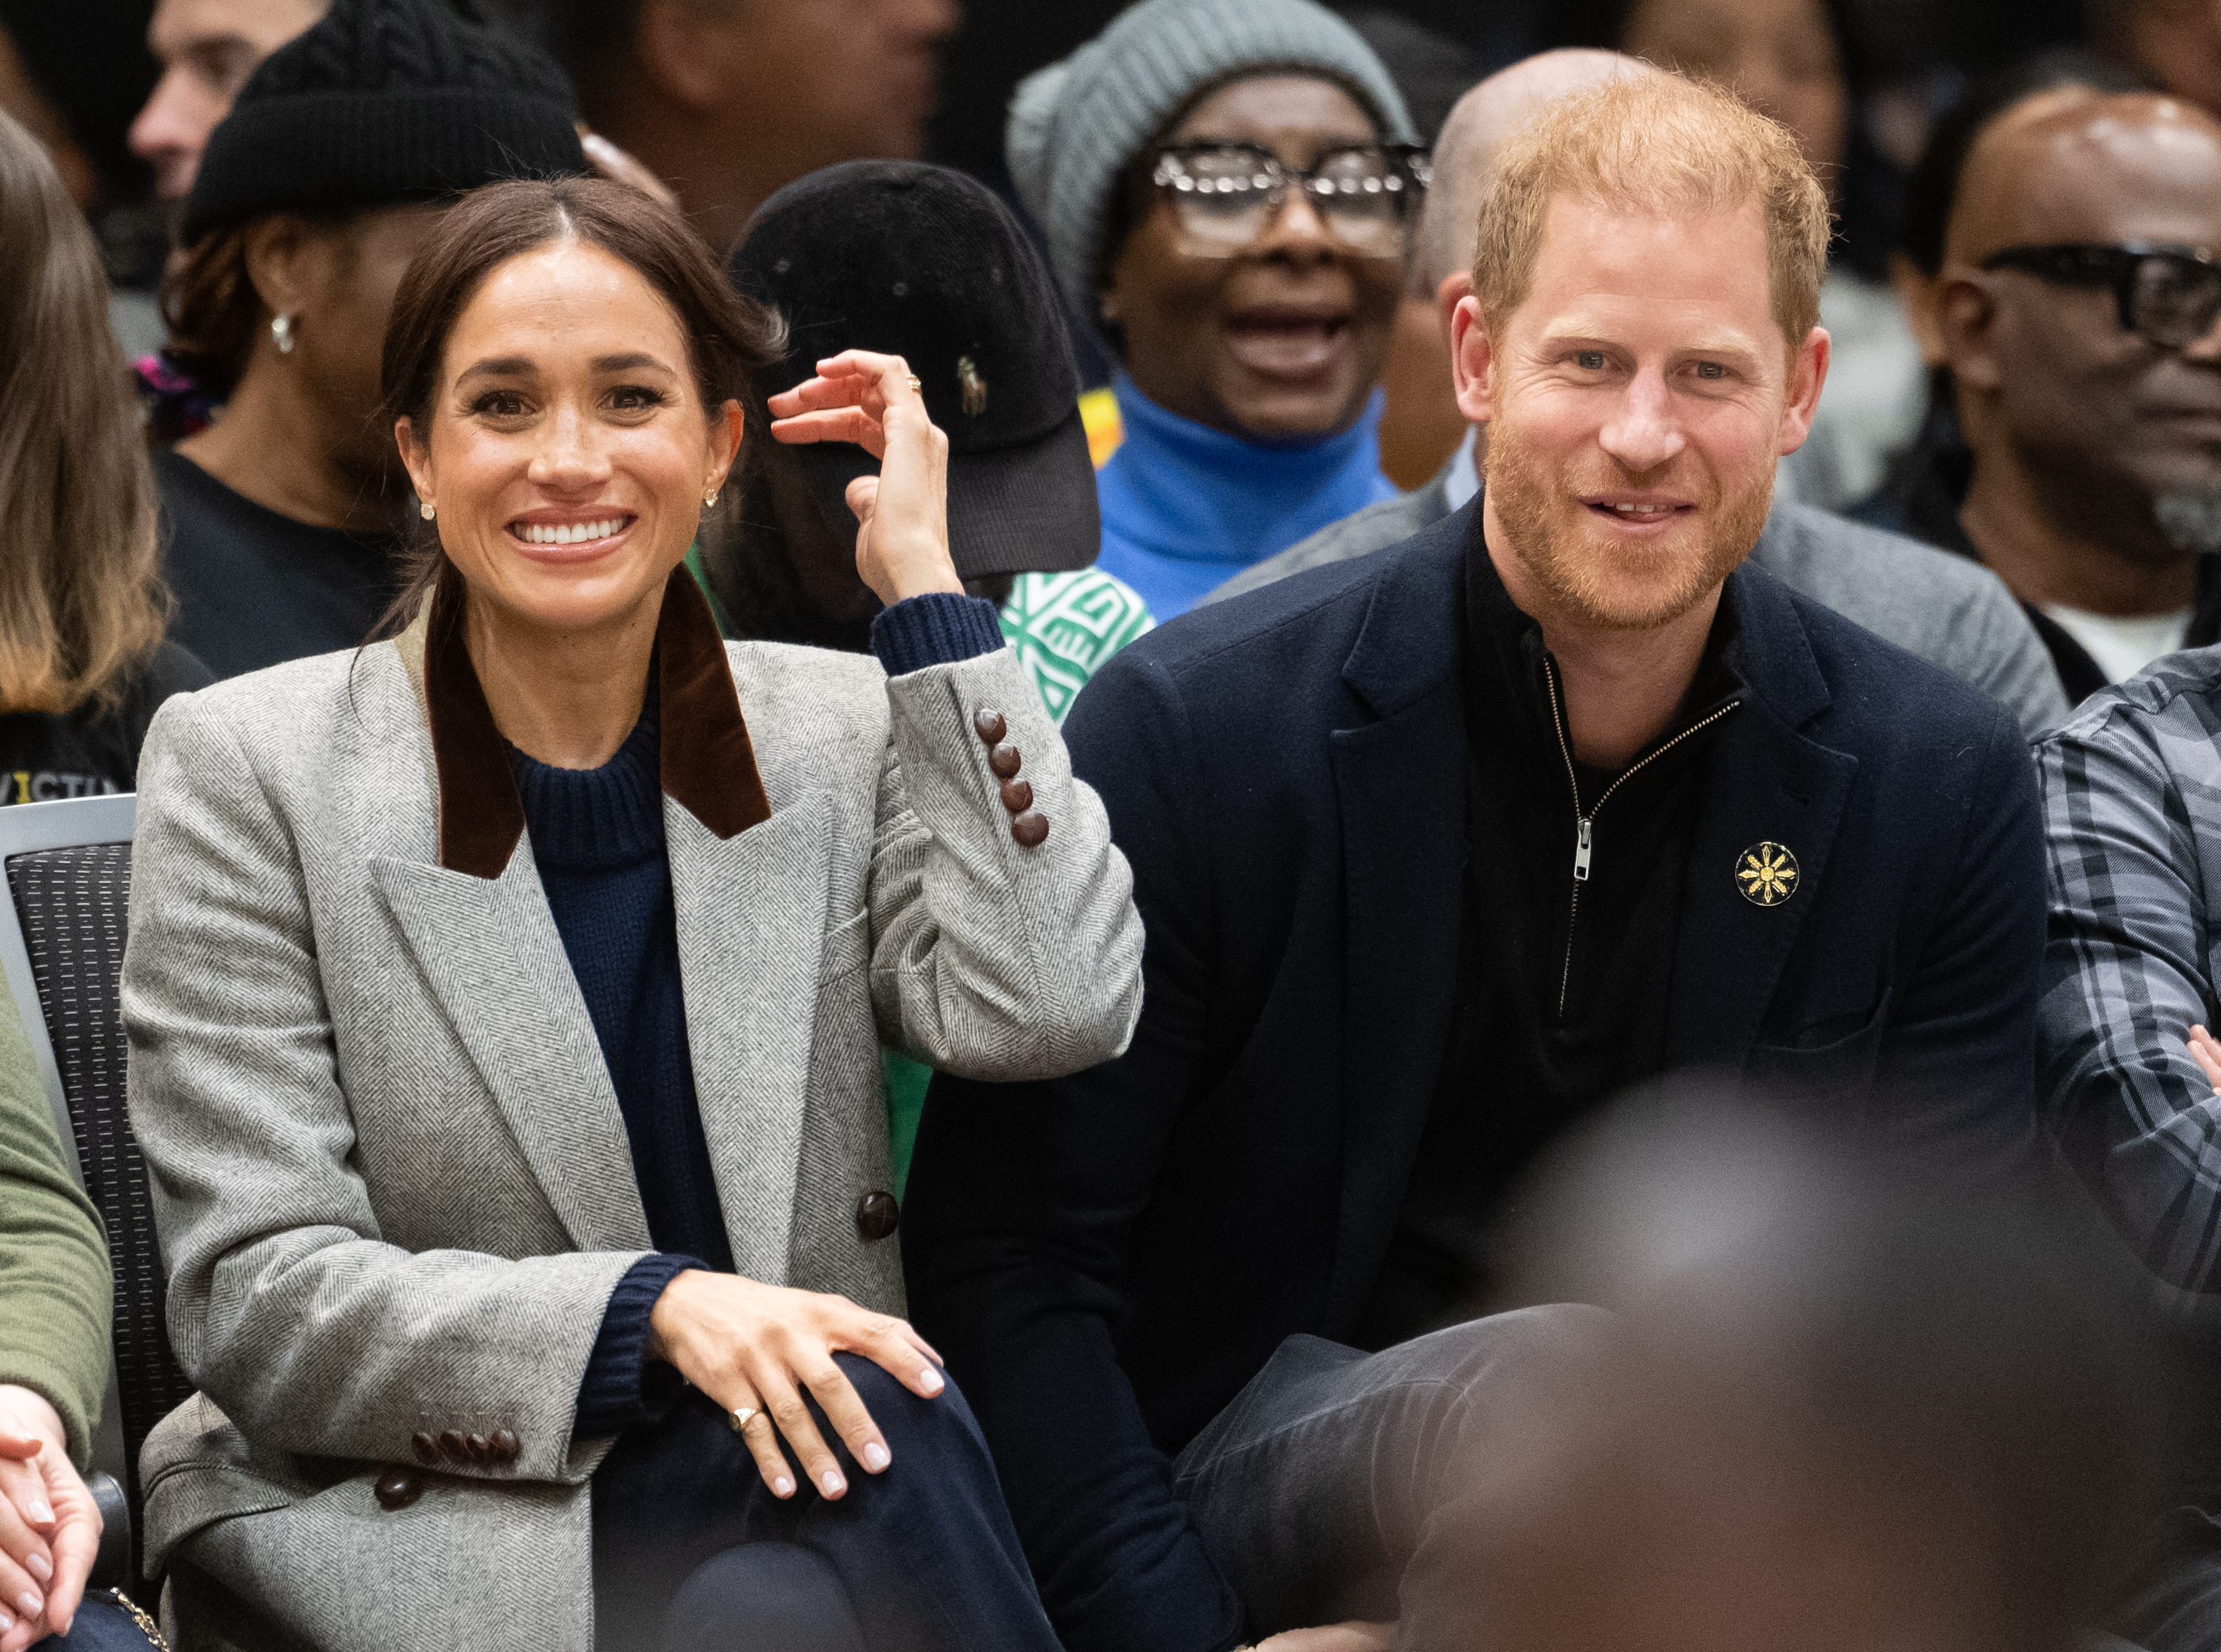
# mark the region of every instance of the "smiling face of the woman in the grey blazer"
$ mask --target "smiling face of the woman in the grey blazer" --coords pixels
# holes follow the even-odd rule
[[[473,604],[577,633],[660,597],[740,446],[740,404],[702,404],[677,313],[631,264],[553,242],[486,275],[429,429],[402,420],[400,442]]]

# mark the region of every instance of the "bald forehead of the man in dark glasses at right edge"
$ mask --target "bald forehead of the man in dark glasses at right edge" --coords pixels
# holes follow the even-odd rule
[[[1948,255],[2054,242],[2221,242],[2221,127],[2150,93],[2023,107],[1974,144]]]

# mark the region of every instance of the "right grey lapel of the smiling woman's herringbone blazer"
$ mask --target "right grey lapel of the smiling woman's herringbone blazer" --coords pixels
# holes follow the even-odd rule
[[[788,1272],[802,1099],[826,935],[831,797],[804,793],[720,837],[664,799],[686,1044],[733,1266]]]

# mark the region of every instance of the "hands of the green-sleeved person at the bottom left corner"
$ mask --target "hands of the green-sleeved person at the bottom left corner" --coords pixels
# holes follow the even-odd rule
[[[44,1394],[0,1383],[0,1652],[69,1634],[100,1554],[100,1508]]]

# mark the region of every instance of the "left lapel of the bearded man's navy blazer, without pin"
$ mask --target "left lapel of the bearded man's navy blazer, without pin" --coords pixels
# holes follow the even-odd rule
[[[1364,1308],[1450,1035],[1466,866],[1457,675],[1466,513],[1390,553],[1344,666],[1377,722],[1328,737],[1346,897],[1341,1226],[1328,1323]]]

